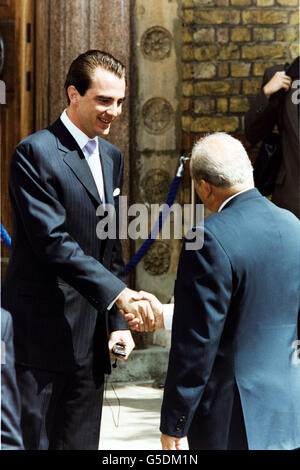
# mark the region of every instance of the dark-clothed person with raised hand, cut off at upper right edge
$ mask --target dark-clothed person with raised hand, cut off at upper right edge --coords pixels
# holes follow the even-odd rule
[[[300,218],[299,57],[292,64],[266,69],[262,88],[245,115],[245,134],[256,144],[277,124],[282,140],[282,163],[272,201]],[[298,81],[298,82],[297,82]],[[295,87],[294,87],[295,85]]]

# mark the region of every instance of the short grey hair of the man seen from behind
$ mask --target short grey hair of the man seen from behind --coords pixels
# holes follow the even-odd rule
[[[201,138],[193,147],[191,174],[218,188],[253,182],[253,167],[241,142],[225,132]]]

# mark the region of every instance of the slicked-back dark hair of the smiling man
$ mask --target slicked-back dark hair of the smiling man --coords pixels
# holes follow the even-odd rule
[[[86,51],[73,60],[67,73],[65,91],[68,104],[68,87],[73,85],[81,96],[85,95],[92,84],[92,74],[97,67],[102,67],[119,78],[125,77],[125,66],[111,54],[98,49]]]

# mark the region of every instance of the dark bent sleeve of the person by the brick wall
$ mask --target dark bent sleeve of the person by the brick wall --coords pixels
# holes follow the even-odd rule
[[[263,92],[263,87],[272,78],[274,73],[267,69],[258,95],[251,101],[250,109],[245,115],[245,135],[251,144],[264,139],[274,128],[278,119],[278,95],[269,99]]]

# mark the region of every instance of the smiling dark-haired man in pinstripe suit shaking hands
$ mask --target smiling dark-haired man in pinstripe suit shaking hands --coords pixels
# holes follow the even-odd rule
[[[119,220],[123,156],[101,136],[121,115],[125,90],[120,61],[81,54],[66,77],[67,109],[11,159],[12,255],[2,294],[13,315],[26,449],[98,448],[109,354],[121,343],[127,359],[134,347],[117,309],[150,310],[126,287],[118,235],[99,233],[105,205]]]

